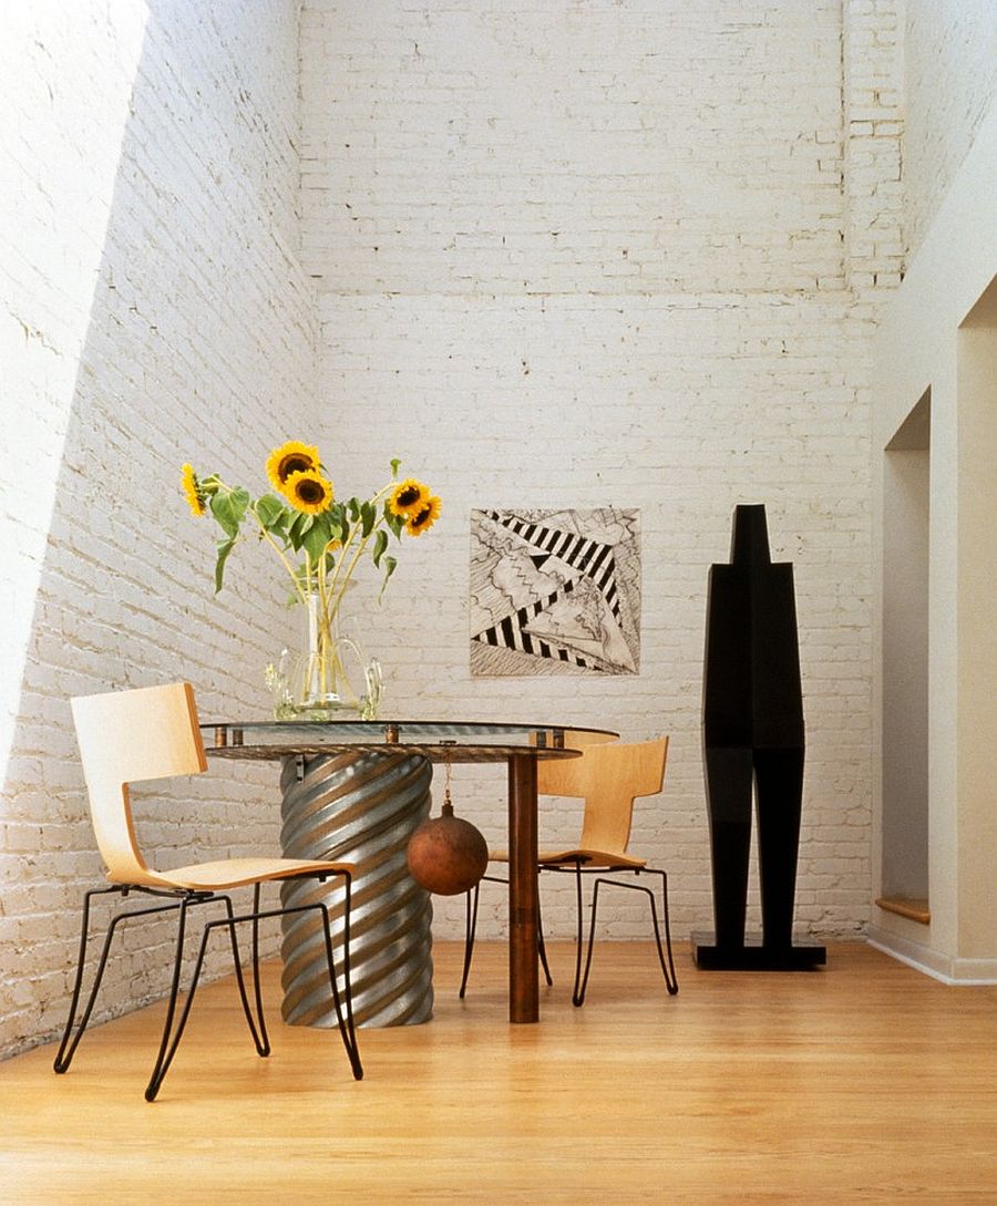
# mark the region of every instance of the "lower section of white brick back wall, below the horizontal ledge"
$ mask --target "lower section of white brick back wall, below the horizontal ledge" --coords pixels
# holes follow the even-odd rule
[[[322,393],[365,415],[332,452],[337,480],[367,485],[371,464],[401,455],[444,499],[437,527],[402,549],[383,608],[365,616],[386,707],[671,733],[665,794],[640,806],[635,841],[670,868],[682,937],[711,917],[706,574],[728,558],[734,504],[769,504],[774,556],[795,563],[809,725],[798,919],[858,927],[869,880],[868,332],[847,300],[325,294],[321,316]],[[468,513],[515,504],[640,508],[637,677],[471,678]],[[457,809],[498,844],[501,773],[459,767],[454,783]],[[548,807],[542,833],[577,837],[572,806]],[[495,932],[505,906],[497,889],[488,900]],[[552,932],[570,932],[567,885],[552,879],[546,901]],[[613,932],[643,936],[624,915],[607,913]],[[437,901],[438,936],[456,937],[459,920],[459,903]]]

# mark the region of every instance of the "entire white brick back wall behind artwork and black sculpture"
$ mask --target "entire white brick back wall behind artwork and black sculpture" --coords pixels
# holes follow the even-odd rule
[[[897,30],[897,4],[858,0],[303,14],[303,254],[320,392],[350,433],[337,480],[373,486],[401,456],[444,498],[365,619],[387,707],[669,732],[635,839],[670,868],[681,937],[711,924],[705,585],[739,502],[769,505],[797,572],[798,924],[868,915],[868,374],[900,274]],[[608,503],[641,511],[640,674],[472,679],[470,510]],[[455,800],[501,838],[501,775],[456,769]],[[570,841],[573,806],[548,802],[542,832]],[[460,902],[436,908],[456,936]],[[607,923],[646,933],[629,903]],[[484,927],[503,926],[492,889]]]

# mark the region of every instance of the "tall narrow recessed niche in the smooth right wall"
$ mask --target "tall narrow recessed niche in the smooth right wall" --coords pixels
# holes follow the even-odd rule
[[[884,456],[882,897],[928,920],[931,390]]]

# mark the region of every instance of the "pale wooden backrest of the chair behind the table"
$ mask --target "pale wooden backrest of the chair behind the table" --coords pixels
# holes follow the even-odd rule
[[[583,745],[581,757],[541,759],[537,791],[585,801],[582,849],[625,854],[634,800],[661,790],[667,749],[667,737],[659,737],[634,744]]]

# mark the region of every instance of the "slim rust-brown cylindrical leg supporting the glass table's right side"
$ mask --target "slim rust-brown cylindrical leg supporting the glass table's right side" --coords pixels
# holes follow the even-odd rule
[[[509,1021],[540,1020],[537,971],[537,763],[509,757]]]

